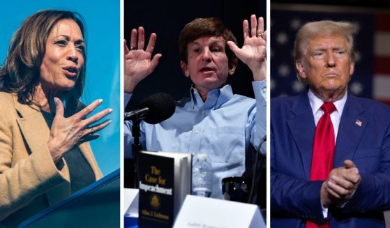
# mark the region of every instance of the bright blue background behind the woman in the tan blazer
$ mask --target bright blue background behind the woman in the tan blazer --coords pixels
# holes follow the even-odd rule
[[[22,22],[38,10],[72,10],[80,13],[87,24],[87,80],[82,102],[98,98],[103,104],[93,114],[110,107],[112,123],[101,130],[100,138],[91,142],[93,153],[103,175],[119,168],[120,113],[120,20],[119,0],[47,0],[3,1],[0,7],[0,65],[6,59],[13,33]]]

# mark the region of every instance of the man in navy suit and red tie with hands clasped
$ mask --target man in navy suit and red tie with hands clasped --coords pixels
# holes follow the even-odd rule
[[[385,227],[390,107],[347,92],[356,31],[320,21],[297,33],[308,91],[271,100],[271,227]]]

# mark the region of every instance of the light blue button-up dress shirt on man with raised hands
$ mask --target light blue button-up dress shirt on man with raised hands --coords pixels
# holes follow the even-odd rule
[[[209,91],[202,101],[196,89],[190,98],[176,104],[173,116],[158,124],[142,121],[140,142],[148,151],[206,153],[213,167],[211,197],[223,198],[221,181],[227,176],[241,176],[245,171],[246,151],[258,148],[266,135],[266,94],[264,79],[253,82],[255,99],[234,95],[230,85]],[[130,94],[125,94],[125,104]],[[131,158],[131,121],[125,121],[125,158]],[[260,153],[265,155],[266,144]],[[196,159],[193,159],[193,163]]]

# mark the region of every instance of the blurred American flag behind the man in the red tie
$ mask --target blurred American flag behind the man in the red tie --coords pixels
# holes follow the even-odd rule
[[[294,5],[271,8],[271,97],[290,96],[306,89],[298,82],[293,47],[298,29],[317,20],[357,24],[356,64],[349,89],[356,96],[390,105],[390,13],[354,12],[316,6],[295,10]],[[303,7],[301,7],[303,8]],[[336,9],[336,10],[335,10]]]

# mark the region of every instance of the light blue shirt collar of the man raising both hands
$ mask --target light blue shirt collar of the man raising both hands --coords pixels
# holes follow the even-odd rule
[[[199,109],[218,109],[221,105],[225,104],[228,100],[233,97],[232,86],[227,84],[219,89],[212,89],[207,94],[207,99],[203,102],[200,97],[200,93],[195,89],[195,86],[190,88],[191,102],[193,102],[193,107],[198,107]]]

